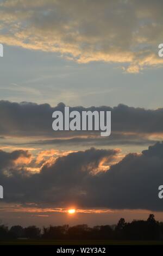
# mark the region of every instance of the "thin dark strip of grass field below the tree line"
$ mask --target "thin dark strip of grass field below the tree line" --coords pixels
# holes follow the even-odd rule
[[[0,245],[163,245],[163,241],[117,240],[11,240]]]

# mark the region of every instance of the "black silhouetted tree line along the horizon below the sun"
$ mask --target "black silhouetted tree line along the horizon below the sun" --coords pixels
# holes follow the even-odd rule
[[[121,218],[117,225],[97,225],[93,228],[86,224],[73,227],[50,225],[43,229],[35,225],[26,228],[14,225],[10,229],[6,225],[0,225],[0,240],[5,239],[163,240],[163,222],[156,221],[151,214],[146,221],[126,222]]]

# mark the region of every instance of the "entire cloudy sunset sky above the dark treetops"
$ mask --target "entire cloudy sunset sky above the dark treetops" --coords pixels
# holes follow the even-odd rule
[[[0,220],[163,221],[161,0],[0,1]],[[111,135],[52,113],[111,111]],[[68,215],[67,210],[76,209]]]

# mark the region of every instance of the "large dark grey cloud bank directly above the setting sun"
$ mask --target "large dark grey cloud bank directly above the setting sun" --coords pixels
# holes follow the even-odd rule
[[[158,187],[163,179],[163,143],[156,143],[142,154],[128,154],[112,164],[118,150],[70,153],[44,164],[40,173],[23,169],[8,175],[1,171],[5,202],[34,203],[39,207],[76,205],[77,208],[146,209],[162,211]],[[101,164],[108,164],[104,170]],[[101,168],[101,169],[100,169]]]

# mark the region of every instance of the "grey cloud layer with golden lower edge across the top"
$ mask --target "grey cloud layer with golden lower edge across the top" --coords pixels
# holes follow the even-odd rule
[[[160,66],[160,0],[6,0],[2,43],[59,52],[78,63],[121,63],[126,72]]]

